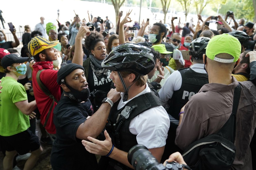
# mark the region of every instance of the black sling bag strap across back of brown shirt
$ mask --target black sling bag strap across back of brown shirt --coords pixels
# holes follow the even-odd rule
[[[228,118],[228,121],[222,126],[222,128],[218,131],[218,133],[216,133],[233,143],[235,142],[236,112],[237,112],[238,105],[239,105],[240,94],[241,94],[241,86],[238,83],[238,85],[235,87],[235,90],[234,90],[232,113],[231,113],[230,117]],[[233,133],[232,133],[232,131],[233,131]]]

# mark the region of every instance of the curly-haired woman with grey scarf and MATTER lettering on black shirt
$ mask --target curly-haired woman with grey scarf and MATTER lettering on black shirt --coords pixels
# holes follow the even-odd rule
[[[107,97],[112,79],[109,78],[111,71],[101,67],[101,63],[107,56],[103,35],[91,32],[84,41],[85,48],[89,51],[89,58],[83,62],[84,74],[91,92],[91,103],[94,111],[101,105],[101,101]]]

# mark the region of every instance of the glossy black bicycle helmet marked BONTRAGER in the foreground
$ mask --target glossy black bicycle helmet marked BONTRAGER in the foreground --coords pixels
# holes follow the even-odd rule
[[[125,43],[113,49],[101,66],[111,71],[133,71],[147,75],[155,67],[151,49],[140,44]]]

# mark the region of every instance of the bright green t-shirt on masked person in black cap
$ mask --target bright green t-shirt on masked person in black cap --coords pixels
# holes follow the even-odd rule
[[[29,116],[23,114],[14,103],[28,100],[22,84],[12,77],[1,79],[3,89],[0,93],[0,135],[12,136],[26,131],[29,127]]]

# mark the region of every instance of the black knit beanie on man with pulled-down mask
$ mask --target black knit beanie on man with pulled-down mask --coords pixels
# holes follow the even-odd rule
[[[65,79],[66,76],[68,76],[72,71],[76,69],[82,69],[84,70],[84,67],[82,65],[78,65],[75,63],[69,63],[62,67],[60,67],[60,70],[57,73],[57,83],[62,84],[61,80]]]

